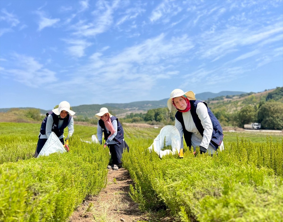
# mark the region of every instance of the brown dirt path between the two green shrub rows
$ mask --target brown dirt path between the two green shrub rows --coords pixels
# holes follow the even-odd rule
[[[128,170],[108,170],[106,188],[98,196],[88,198],[70,217],[70,222],[148,221],[138,204],[129,197],[132,184]]]

